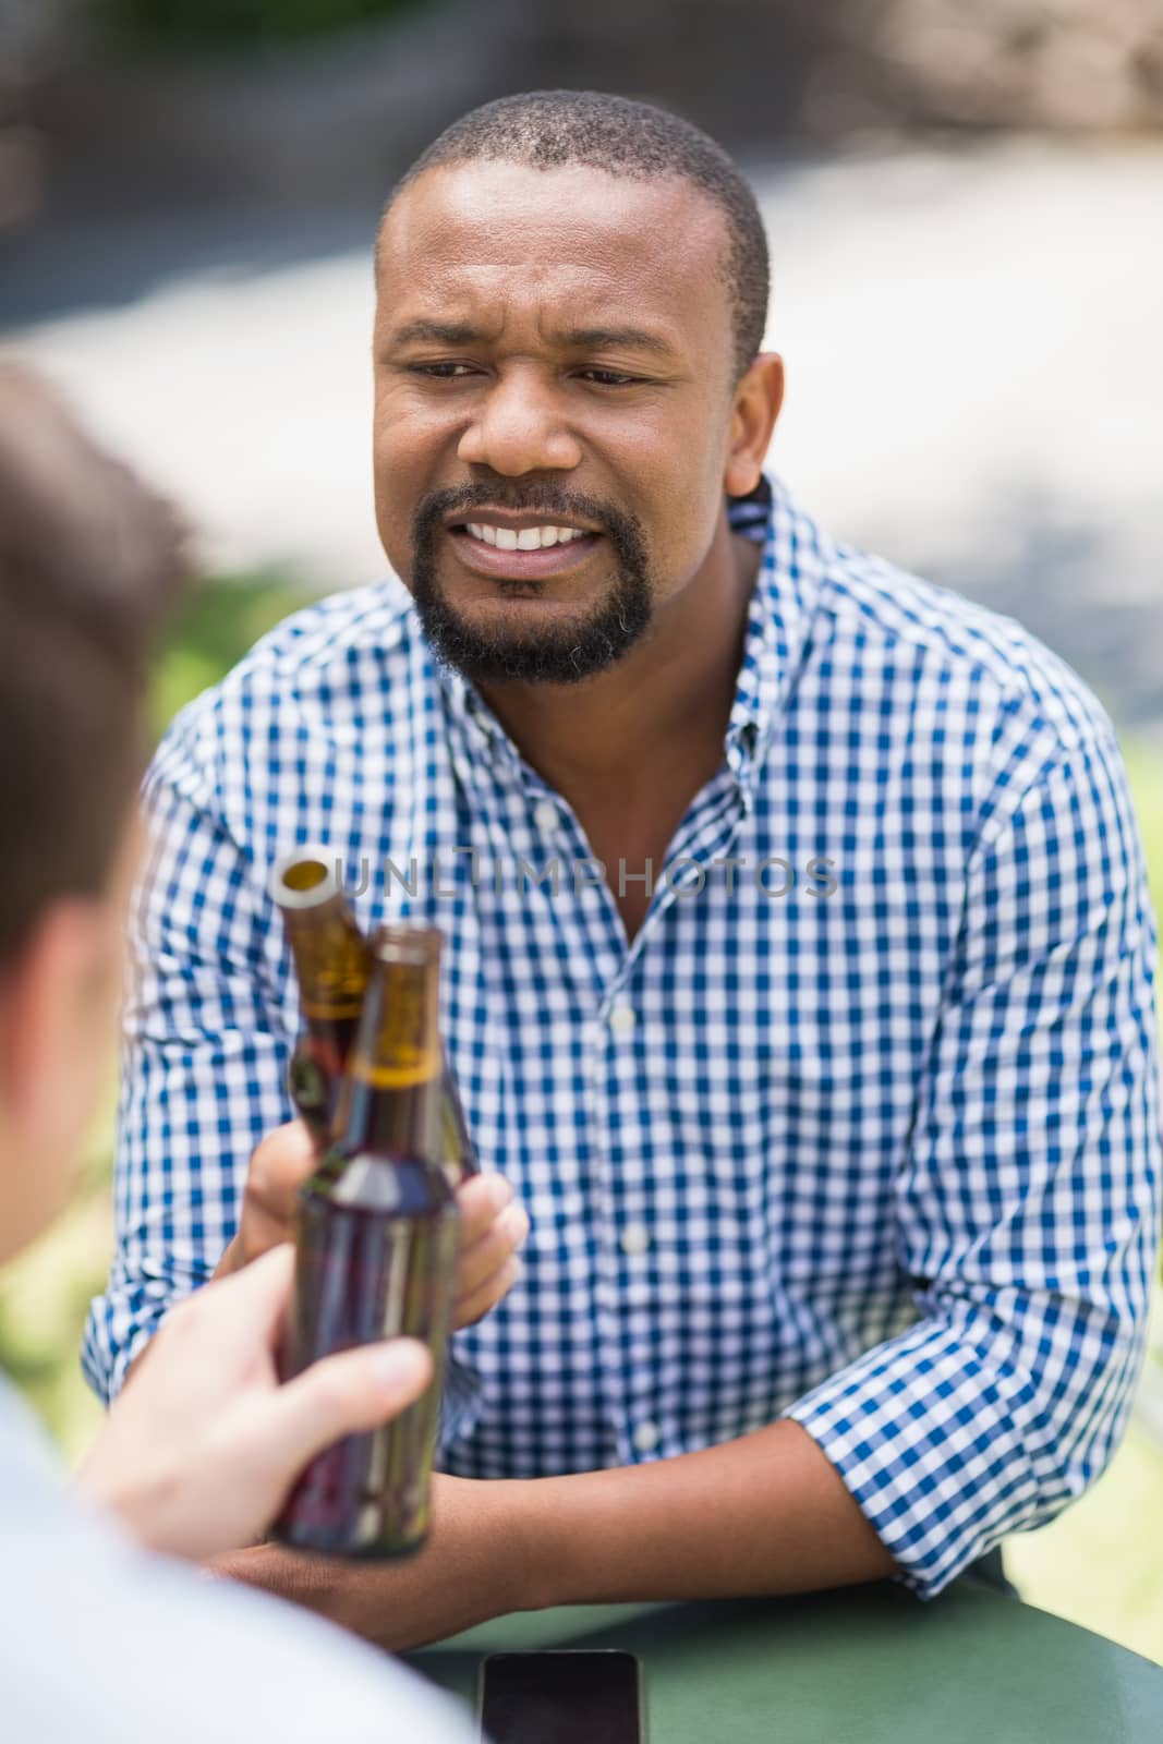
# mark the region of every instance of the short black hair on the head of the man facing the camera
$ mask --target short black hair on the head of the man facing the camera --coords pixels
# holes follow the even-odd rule
[[[715,140],[654,103],[603,91],[525,91],[446,127],[399,178],[384,215],[425,169],[490,159],[534,169],[586,164],[635,181],[680,176],[701,188],[727,220],[736,380],[750,368],[767,323],[767,237],[755,195]]]

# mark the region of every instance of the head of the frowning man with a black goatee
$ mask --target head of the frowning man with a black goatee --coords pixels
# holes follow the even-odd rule
[[[652,105],[502,98],[424,152],[377,242],[375,495],[441,657],[586,678],[697,586],[779,412],[767,291],[746,181]]]

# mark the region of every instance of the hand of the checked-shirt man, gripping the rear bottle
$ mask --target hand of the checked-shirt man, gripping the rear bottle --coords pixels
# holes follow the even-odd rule
[[[216,1278],[239,1271],[295,1235],[295,1195],[314,1172],[319,1151],[302,1120],[269,1134],[251,1156],[239,1231],[218,1261]],[[460,1270],[453,1325],[473,1325],[509,1292],[528,1235],[528,1217],[513,1205],[504,1175],[471,1175],[457,1189]]]

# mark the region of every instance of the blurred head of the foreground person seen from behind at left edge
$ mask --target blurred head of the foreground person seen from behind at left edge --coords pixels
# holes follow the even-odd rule
[[[106,1080],[166,504],[0,363],[0,1261],[59,1209]]]

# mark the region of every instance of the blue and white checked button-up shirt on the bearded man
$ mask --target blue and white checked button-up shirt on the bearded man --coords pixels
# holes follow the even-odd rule
[[[176,719],[85,1367],[117,1392],[291,1113],[265,882],[323,841],[366,926],[445,928],[467,1116],[532,1217],[457,1334],[479,1392],[445,1467],[792,1416],[929,1596],[1078,1496],[1128,1414],[1160,1224],[1142,853],[1105,715],[1017,624],[778,483],[732,521],[764,562],[724,762],[629,945],[577,818],[394,588],[298,612]]]

